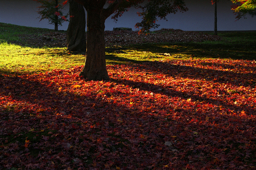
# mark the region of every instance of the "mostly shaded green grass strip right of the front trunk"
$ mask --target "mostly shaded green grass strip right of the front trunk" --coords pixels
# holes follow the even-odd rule
[[[222,59],[256,59],[256,32],[219,33],[222,41],[204,41],[189,43],[136,44],[125,50],[127,54],[110,53],[110,64],[140,63],[143,61],[188,59],[188,58],[222,58]],[[159,55],[161,53],[170,56]]]

